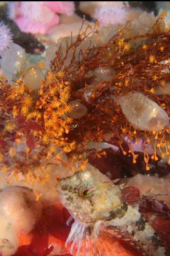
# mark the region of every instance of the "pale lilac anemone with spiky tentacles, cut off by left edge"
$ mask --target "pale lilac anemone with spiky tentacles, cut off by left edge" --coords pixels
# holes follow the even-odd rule
[[[0,54],[7,49],[9,43],[12,42],[12,35],[9,28],[0,22]]]

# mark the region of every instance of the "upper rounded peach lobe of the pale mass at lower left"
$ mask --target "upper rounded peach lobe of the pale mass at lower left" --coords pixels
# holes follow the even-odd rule
[[[40,217],[41,204],[36,201],[30,188],[24,186],[5,187],[0,192],[0,215],[16,230],[29,232]],[[1,230],[0,230],[1,232]]]

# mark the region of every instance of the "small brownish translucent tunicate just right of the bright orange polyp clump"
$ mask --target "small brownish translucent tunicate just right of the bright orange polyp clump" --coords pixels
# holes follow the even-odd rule
[[[72,111],[68,113],[68,116],[74,119],[82,118],[88,111],[86,106],[82,105],[78,100],[70,101],[69,105],[72,106]]]

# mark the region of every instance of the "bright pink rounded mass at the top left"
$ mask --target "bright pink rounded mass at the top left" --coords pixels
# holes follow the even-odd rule
[[[53,26],[59,24],[57,14],[74,14],[74,2],[10,1],[8,9],[9,18],[16,22],[23,32],[46,34]]]

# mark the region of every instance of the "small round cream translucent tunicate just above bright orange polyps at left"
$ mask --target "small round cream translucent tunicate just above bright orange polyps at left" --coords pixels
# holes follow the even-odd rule
[[[31,67],[26,70],[24,75],[24,82],[31,90],[40,88],[42,80],[45,79],[44,74],[39,68]]]

